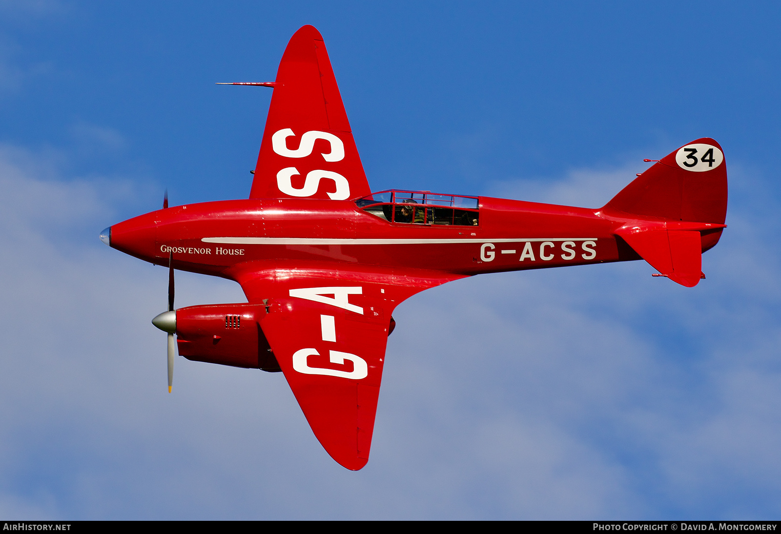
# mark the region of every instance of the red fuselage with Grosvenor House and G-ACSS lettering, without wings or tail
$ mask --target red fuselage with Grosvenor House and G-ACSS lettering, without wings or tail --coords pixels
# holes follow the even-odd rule
[[[298,198],[166,208],[111,227],[111,246],[144,261],[233,279],[245,262],[338,262],[470,276],[639,259],[613,231],[629,214],[479,198],[479,225],[388,222],[354,201]],[[625,216],[620,216],[625,215]],[[648,219],[644,217],[644,219]],[[718,240],[718,233],[711,234]],[[710,248],[703,237],[703,250]]]

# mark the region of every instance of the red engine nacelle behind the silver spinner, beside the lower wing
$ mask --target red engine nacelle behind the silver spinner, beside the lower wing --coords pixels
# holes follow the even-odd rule
[[[262,304],[207,304],[177,310],[179,354],[194,361],[279,372],[260,328]]]

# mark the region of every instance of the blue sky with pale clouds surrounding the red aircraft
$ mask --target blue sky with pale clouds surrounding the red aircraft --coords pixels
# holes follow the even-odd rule
[[[779,8],[772,2],[0,3],[0,517],[778,518]],[[596,207],[714,137],[721,242],[478,276],[401,304],[372,457],[284,379],[177,358],[166,272],[105,226],[246,198],[287,40],[326,40],[373,189]],[[181,273],[177,306],[242,301]]]

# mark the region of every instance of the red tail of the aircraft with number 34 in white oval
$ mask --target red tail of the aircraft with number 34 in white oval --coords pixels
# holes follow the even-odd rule
[[[629,219],[615,230],[663,276],[686,287],[703,277],[701,254],[719,242],[727,211],[722,148],[704,137],[673,151],[602,208]]]

